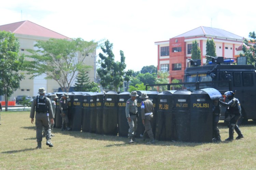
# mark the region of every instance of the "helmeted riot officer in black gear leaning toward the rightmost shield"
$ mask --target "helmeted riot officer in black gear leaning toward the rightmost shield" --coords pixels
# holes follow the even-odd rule
[[[239,129],[239,127],[237,125],[237,121],[241,117],[240,102],[237,98],[234,97],[234,92],[227,91],[224,94],[230,101],[228,103],[224,103],[224,102],[221,101],[221,105],[227,106],[227,111],[228,111],[228,113],[231,117],[230,122],[228,124],[229,137],[226,139],[226,141],[232,141],[234,139],[233,138],[234,130],[238,134],[238,137],[236,137],[236,139],[241,139],[244,136],[241,133],[241,130]]]

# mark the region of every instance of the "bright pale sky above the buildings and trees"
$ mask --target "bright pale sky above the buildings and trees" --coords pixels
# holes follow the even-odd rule
[[[124,51],[126,70],[157,66],[157,45],[200,26],[248,38],[256,31],[255,0],[9,0],[0,25],[29,20],[70,38],[109,40],[115,60]],[[97,49],[97,55],[102,52]]]

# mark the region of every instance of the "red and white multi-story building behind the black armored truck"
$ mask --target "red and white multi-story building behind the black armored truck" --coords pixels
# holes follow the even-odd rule
[[[181,35],[170,38],[168,41],[155,42],[157,45],[157,70],[169,72],[169,82],[178,79],[182,82],[185,68],[190,65],[187,58],[191,58],[192,42],[197,41],[201,49],[201,63],[206,63],[207,39],[213,38],[216,55],[225,58],[239,56],[237,49],[243,44],[243,37],[228,31],[210,27],[198,27]]]

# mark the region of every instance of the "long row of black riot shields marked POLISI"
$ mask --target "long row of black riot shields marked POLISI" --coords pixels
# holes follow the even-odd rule
[[[137,91],[147,93],[154,106],[152,130],[155,139],[161,141],[211,142],[213,100],[222,95],[213,88],[193,91],[172,90]],[[63,93],[55,93],[61,98]],[[50,95],[50,94],[49,94]],[[73,131],[128,136],[129,125],[126,119],[126,101],[129,92],[117,94],[72,92],[69,93],[69,120]],[[59,99],[56,102],[55,128],[61,128]],[[142,99],[137,97],[139,111],[137,135],[144,133],[141,120]]]

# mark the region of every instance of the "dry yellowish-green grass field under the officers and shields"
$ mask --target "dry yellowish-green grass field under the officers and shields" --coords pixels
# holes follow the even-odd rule
[[[0,169],[256,169],[256,122],[240,126],[244,138],[221,143],[156,141],[54,129],[53,148],[37,146],[28,111],[1,112]],[[219,123],[222,140],[228,128]],[[237,135],[235,134],[234,137]]]

